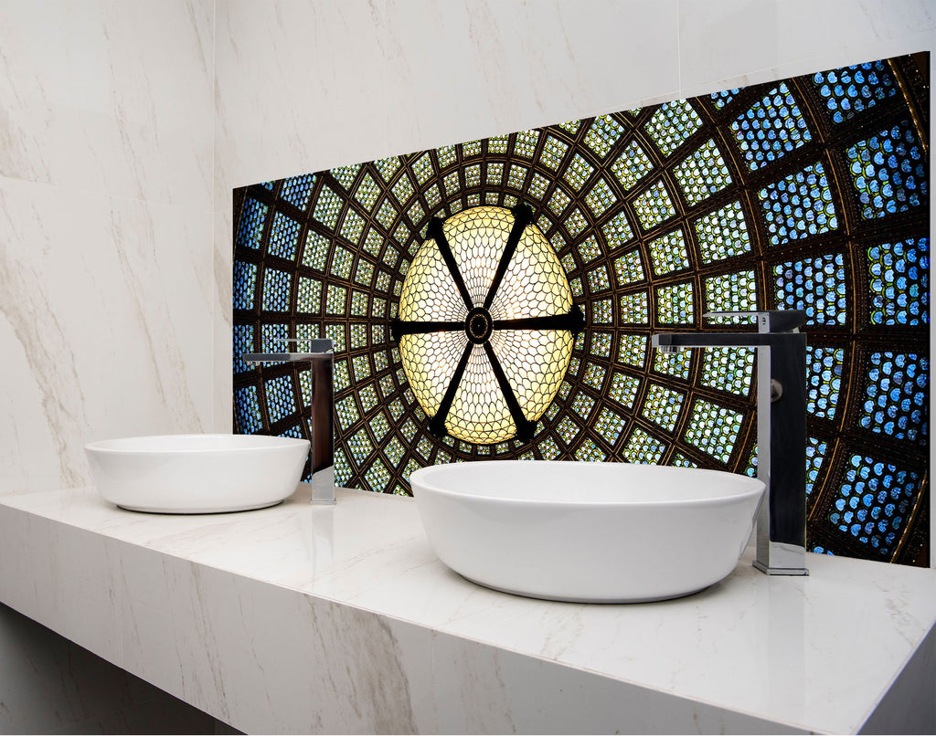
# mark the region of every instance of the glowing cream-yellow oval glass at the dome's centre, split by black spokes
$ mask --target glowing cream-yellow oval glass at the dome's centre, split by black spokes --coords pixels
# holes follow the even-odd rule
[[[466,209],[443,227],[452,263],[463,281],[472,310],[485,309],[516,218],[507,209]],[[442,248],[427,239],[407,271],[400,298],[400,319],[410,323],[465,325],[468,303],[453,281]],[[409,384],[427,415],[443,407],[462,356],[467,362],[446,408],[446,429],[475,444],[514,437],[519,427],[509,402],[516,400],[528,421],[546,411],[568,368],[572,336],[560,329],[509,329],[498,323],[560,315],[572,307],[562,265],[533,224],[523,227],[516,252],[490,300],[490,339],[473,342],[464,329],[407,334],[400,354]],[[480,318],[479,318],[480,319]],[[468,321],[469,329],[471,321]],[[497,367],[490,352],[497,356]],[[497,375],[502,371],[512,391]]]

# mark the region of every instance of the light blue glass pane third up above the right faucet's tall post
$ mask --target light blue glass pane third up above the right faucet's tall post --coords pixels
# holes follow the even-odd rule
[[[812,140],[809,126],[785,82],[731,123],[741,155],[752,171]]]

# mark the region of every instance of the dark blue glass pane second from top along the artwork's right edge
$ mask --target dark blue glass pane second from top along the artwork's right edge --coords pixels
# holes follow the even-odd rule
[[[859,141],[845,157],[864,219],[927,203],[927,155],[910,121]]]

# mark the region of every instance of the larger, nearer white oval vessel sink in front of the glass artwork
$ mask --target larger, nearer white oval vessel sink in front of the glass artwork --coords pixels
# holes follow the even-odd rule
[[[475,583],[538,599],[634,603],[722,580],[764,483],[719,470],[493,460],[410,477],[439,558]]]

